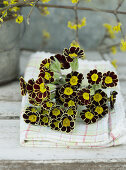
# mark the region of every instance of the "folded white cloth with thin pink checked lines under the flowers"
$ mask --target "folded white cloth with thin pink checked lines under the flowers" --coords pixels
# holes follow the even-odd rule
[[[38,77],[39,66],[44,58],[49,58],[53,54],[37,52],[31,56],[30,62],[26,68],[25,81]],[[79,60],[79,72],[84,74],[85,84],[86,75],[92,69],[98,69],[101,72],[114,71],[115,68],[109,61],[87,61]],[[63,71],[64,72],[64,71]],[[65,71],[69,73],[70,70]],[[120,93],[120,85],[114,87],[118,91],[115,108],[97,123],[85,125],[80,118],[76,120],[75,129],[66,134],[51,130],[49,127],[32,126],[26,124],[22,115],[26,107],[30,106],[28,96],[23,96],[22,109],[20,116],[20,143],[22,146],[37,147],[67,147],[67,148],[85,148],[85,147],[108,147],[124,144],[126,142],[125,112],[123,99]],[[109,89],[106,93],[110,93]]]

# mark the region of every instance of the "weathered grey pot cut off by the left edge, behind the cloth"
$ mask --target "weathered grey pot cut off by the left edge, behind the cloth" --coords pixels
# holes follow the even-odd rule
[[[20,25],[11,19],[0,28],[0,84],[13,80],[19,72]]]

